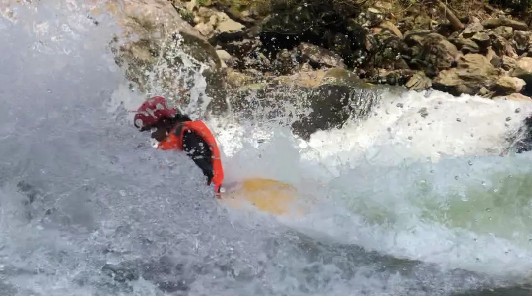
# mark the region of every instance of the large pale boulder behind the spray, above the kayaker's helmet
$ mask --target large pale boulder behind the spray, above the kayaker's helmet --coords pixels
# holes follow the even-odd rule
[[[186,94],[200,64],[184,65],[176,52],[203,63],[207,80],[207,95],[213,98],[210,108],[227,107],[223,91],[222,63],[215,49],[202,34],[181,19],[179,13],[166,0],[111,1],[107,11],[122,27],[121,38],[111,44],[115,62],[123,67],[126,77],[137,83],[143,92],[157,90],[157,95],[177,97]],[[120,40],[120,42],[119,42]],[[159,64],[155,67],[155,64]],[[184,97],[187,103],[188,97]],[[201,103],[201,102],[200,102]]]

